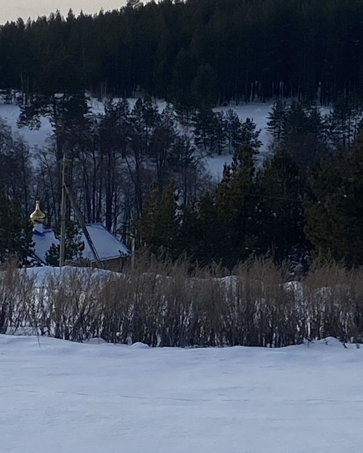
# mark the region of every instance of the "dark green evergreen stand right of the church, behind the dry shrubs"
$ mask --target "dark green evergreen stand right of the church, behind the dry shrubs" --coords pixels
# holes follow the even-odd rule
[[[362,265],[362,119],[354,97],[324,117],[277,102],[268,122],[271,158],[259,164],[249,135],[212,190],[180,206],[175,186],[155,188],[138,220],[142,242],[228,267],[265,254],[295,271],[315,259]]]

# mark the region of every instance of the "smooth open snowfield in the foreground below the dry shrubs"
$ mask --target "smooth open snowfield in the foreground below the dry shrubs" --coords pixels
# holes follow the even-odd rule
[[[4,453],[360,453],[363,349],[0,335]]]

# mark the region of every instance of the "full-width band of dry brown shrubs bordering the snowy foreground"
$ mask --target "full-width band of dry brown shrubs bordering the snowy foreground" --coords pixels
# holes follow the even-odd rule
[[[36,287],[12,268],[0,278],[0,332],[30,327],[73,341],[181,347],[281,347],[327,336],[360,342],[362,277],[362,269],[332,263],[286,284],[286,270],[267,258],[230,273],[143,254],[123,274],[63,268]]]

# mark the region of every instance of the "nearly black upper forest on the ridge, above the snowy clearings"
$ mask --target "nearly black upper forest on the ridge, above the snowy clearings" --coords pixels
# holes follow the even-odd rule
[[[184,107],[362,90],[363,0],[129,0],[0,28],[0,88],[130,96]],[[9,96],[8,102],[11,102]]]

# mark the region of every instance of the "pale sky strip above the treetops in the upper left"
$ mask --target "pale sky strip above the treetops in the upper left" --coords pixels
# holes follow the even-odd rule
[[[126,4],[127,0],[0,0],[0,24],[6,21],[15,21],[22,17],[24,21],[31,17],[49,16],[57,9],[63,15],[72,8],[78,15],[81,10],[84,13],[97,13],[101,8],[105,11],[118,9]]]

